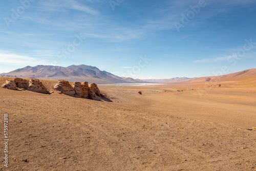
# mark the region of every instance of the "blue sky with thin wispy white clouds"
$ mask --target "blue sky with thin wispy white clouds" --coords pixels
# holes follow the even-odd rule
[[[0,16],[0,73],[84,64],[172,78],[256,68],[252,0],[9,0]]]

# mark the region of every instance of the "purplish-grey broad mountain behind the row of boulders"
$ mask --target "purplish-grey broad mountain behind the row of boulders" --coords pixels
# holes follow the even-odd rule
[[[69,67],[59,66],[35,66],[24,67],[1,74],[2,77],[38,78],[68,81],[88,81],[95,83],[140,83],[142,80],[119,77],[106,71],[101,71],[97,67],[79,65]]]

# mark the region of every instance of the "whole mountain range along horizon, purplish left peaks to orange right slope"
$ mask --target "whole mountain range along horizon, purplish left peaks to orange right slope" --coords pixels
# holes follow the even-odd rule
[[[119,77],[106,71],[101,71],[97,67],[79,65],[79,66],[35,66],[24,67],[11,71],[9,73],[0,74],[1,77],[20,77],[20,78],[38,78],[38,79],[50,79],[59,80],[64,79],[71,82],[74,81],[88,81],[89,83],[95,82],[98,84],[104,83],[164,83],[164,84],[200,84],[200,83],[212,83],[212,82],[235,82],[246,83],[250,86],[254,86],[256,83],[256,69],[244,70],[236,73],[200,77],[200,78],[187,78],[187,77],[175,77],[169,79],[133,79],[130,77]]]

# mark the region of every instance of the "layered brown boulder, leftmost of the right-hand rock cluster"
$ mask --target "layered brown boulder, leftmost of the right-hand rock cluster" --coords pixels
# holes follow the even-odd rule
[[[69,81],[59,80],[54,86],[54,90],[58,93],[66,94],[68,96],[75,97],[75,90],[70,85]]]

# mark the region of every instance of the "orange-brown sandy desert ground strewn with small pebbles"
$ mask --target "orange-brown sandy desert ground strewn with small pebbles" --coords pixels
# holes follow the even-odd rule
[[[99,89],[113,102],[0,88],[0,170],[256,170],[256,91]]]

